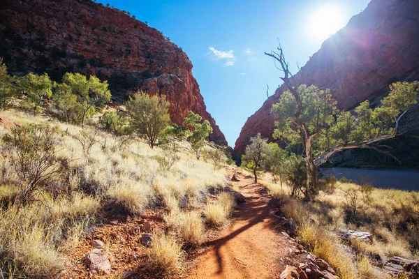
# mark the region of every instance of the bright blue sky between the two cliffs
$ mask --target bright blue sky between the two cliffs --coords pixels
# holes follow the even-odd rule
[[[182,47],[207,111],[228,144],[281,83],[270,52],[281,41],[294,73],[369,0],[98,0],[128,10]]]

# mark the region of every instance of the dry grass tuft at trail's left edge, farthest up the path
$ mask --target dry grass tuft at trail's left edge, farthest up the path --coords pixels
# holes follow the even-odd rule
[[[235,201],[230,193],[221,193],[216,201],[207,204],[204,212],[207,223],[214,226],[224,225],[227,223],[234,206]]]

